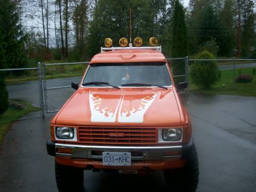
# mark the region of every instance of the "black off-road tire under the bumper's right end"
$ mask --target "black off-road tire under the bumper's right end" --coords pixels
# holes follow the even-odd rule
[[[181,169],[165,170],[166,186],[175,192],[195,192],[198,184],[199,167],[196,147],[193,143],[187,162]]]

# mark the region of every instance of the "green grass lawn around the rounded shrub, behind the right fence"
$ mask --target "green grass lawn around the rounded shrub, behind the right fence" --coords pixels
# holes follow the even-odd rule
[[[241,69],[241,74],[252,75],[252,69],[253,68],[243,68]],[[256,67],[254,67],[254,69],[256,69]],[[236,77],[238,76],[239,76],[239,69],[236,69]],[[225,87],[222,87],[222,84],[225,84]],[[195,85],[190,84],[190,90],[197,93],[243,95],[243,96],[256,97],[256,75],[253,75],[252,82],[235,83],[235,87],[234,87],[233,69],[222,70],[220,81],[218,81],[212,87],[212,89],[209,89],[209,90],[198,89],[198,87],[196,87]]]

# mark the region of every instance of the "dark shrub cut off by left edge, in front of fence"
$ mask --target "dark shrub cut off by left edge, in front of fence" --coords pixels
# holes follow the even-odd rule
[[[4,75],[0,73],[0,115],[8,108],[8,92],[6,91]]]

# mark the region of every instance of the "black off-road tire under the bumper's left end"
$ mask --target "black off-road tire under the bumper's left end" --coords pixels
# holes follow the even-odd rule
[[[83,191],[84,171],[55,162],[55,178],[59,192]]]

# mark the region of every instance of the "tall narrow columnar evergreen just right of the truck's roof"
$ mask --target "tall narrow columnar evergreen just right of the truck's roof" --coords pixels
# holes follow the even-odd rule
[[[172,57],[186,57],[188,55],[188,34],[185,23],[185,13],[179,0],[175,1],[172,26]],[[185,66],[183,62],[174,64],[173,74],[185,74]],[[182,78],[178,78],[177,81],[181,82],[183,80]]]

